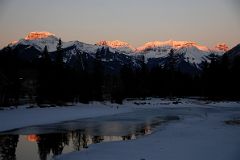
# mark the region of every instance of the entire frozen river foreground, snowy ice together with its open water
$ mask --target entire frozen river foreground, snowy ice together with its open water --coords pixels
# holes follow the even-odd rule
[[[239,160],[239,119],[235,102],[0,111],[0,159]]]

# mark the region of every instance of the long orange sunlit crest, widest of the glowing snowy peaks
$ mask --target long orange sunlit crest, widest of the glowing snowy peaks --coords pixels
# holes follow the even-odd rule
[[[153,41],[153,42],[148,42],[145,43],[143,46],[138,47],[137,51],[145,51],[147,49],[151,48],[158,48],[158,47],[171,47],[174,49],[180,49],[182,47],[196,47],[201,51],[209,51],[209,49],[205,46],[198,45],[196,42],[191,42],[191,41]]]

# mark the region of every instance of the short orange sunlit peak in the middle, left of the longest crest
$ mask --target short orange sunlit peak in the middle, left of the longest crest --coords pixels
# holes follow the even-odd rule
[[[96,45],[108,46],[111,48],[119,49],[126,52],[134,52],[136,49],[127,42],[115,40],[115,41],[100,41]]]

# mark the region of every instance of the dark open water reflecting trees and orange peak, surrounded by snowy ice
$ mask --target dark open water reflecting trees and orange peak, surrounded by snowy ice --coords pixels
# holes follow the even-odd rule
[[[106,119],[106,121],[102,120],[101,123],[95,123],[95,121],[91,123],[85,122],[85,126],[80,123],[79,125],[83,125],[83,128],[75,128],[75,130],[74,127],[68,130],[66,128],[61,128],[61,125],[55,124],[53,126],[36,127],[36,132],[40,129],[45,131],[38,132],[36,134],[27,135],[28,133],[34,133],[34,131],[31,130],[31,127],[9,132],[9,135],[0,136],[0,159],[25,160],[23,157],[18,157],[18,155],[16,155],[16,148],[18,147],[18,152],[21,152],[23,155],[31,157],[38,154],[37,157],[39,157],[40,160],[49,160],[62,153],[86,149],[89,145],[95,143],[136,139],[138,137],[151,134],[152,129],[164,122],[179,120],[177,116],[160,116],[148,119],[145,123],[132,124],[132,121],[126,123],[126,121],[124,121],[125,118],[123,117],[122,120],[118,119],[119,121],[115,121],[116,119],[112,117],[112,123],[110,123],[111,121],[109,119]],[[137,116],[135,115],[135,117]],[[62,125],[71,126],[71,124],[66,125],[65,123]],[[114,126],[115,128],[113,128]],[[51,130],[54,127],[56,130]],[[102,132],[103,130],[104,132]],[[22,136],[21,134],[27,136]],[[18,141],[20,141],[19,144],[21,145],[17,146]],[[37,148],[29,147],[29,144],[33,144],[31,146],[36,145]]]

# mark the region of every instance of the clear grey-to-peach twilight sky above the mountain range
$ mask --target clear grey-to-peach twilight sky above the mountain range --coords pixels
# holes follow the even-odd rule
[[[240,0],[0,0],[0,48],[31,31],[63,41],[240,43]]]

